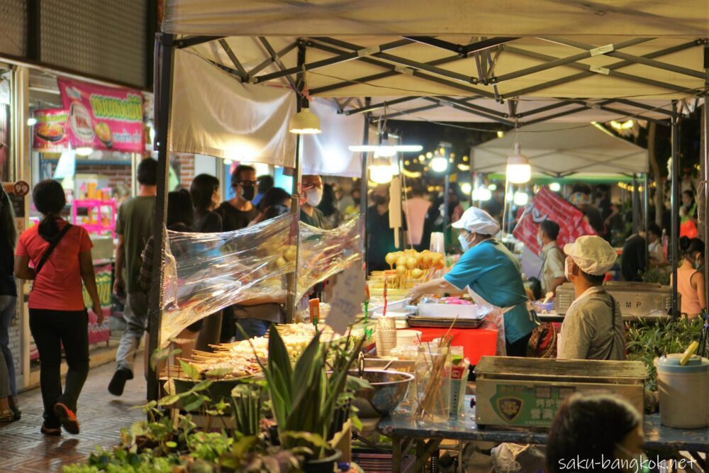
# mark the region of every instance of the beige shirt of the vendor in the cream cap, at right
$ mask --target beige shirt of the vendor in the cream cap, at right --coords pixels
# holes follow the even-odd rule
[[[600,286],[587,289],[566,311],[557,360],[625,360],[625,325],[615,301]]]

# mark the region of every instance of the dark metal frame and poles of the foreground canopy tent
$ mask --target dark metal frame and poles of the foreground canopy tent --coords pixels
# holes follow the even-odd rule
[[[395,38],[392,36],[392,38]],[[554,43],[564,44],[569,46],[569,48],[581,49],[583,52],[576,52],[573,55],[566,57],[552,57],[549,55],[543,55],[537,52],[532,52],[525,50],[523,48],[518,48],[514,42],[517,38],[509,37],[497,37],[497,38],[480,38],[474,43],[468,45],[458,45],[454,43],[441,40],[435,36],[413,36],[413,37],[399,37],[390,43],[385,43],[379,45],[375,48],[362,48],[359,45],[352,43],[347,43],[336,38],[328,37],[317,37],[317,38],[301,38],[298,39],[296,43],[291,43],[287,45],[284,49],[280,51],[275,51],[270,45],[267,38],[259,37],[259,41],[267,52],[267,57],[256,67],[253,67],[250,71],[243,67],[242,62],[238,58],[238,52],[233,51],[228,42],[221,36],[209,37],[209,36],[184,36],[181,38],[176,38],[172,34],[161,34],[156,35],[156,62],[160,65],[160,73],[158,77],[155,78],[156,84],[156,110],[157,110],[157,139],[156,148],[158,152],[158,162],[159,162],[159,175],[157,182],[157,192],[160,196],[156,202],[155,208],[155,255],[161,255],[164,250],[164,237],[165,228],[164,222],[167,208],[167,161],[169,158],[169,128],[170,128],[170,105],[172,101],[172,80],[173,80],[173,57],[175,48],[187,48],[189,46],[199,45],[201,43],[207,43],[210,41],[218,41],[218,44],[223,48],[225,55],[230,59],[233,64],[232,67],[226,65],[219,65],[222,69],[233,74],[235,79],[240,82],[252,82],[260,83],[267,82],[269,80],[285,78],[289,85],[294,89],[294,92],[298,95],[301,94],[301,85],[304,83],[303,77],[308,70],[318,69],[320,67],[325,67],[328,65],[335,65],[340,62],[345,61],[360,61],[365,62],[369,65],[376,65],[386,71],[379,74],[370,74],[366,77],[358,77],[352,79],[345,79],[341,82],[335,84],[330,84],[328,86],[319,87],[312,89],[311,95],[324,94],[325,92],[341,89],[352,84],[369,83],[376,81],[377,79],[383,79],[386,77],[394,77],[398,74],[406,74],[413,77],[423,79],[428,82],[435,82],[437,84],[442,84],[452,89],[458,89],[460,91],[467,92],[464,97],[452,98],[450,96],[424,96],[432,104],[429,106],[420,106],[414,108],[413,110],[403,110],[395,111],[387,116],[387,118],[393,118],[395,116],[406,115],[410,113],[415,113],[418,111],[430,110],[432,108],[437,108],[440,106],[451,106],[462,111],[471,113],[474,116],[482,116],[484,118],[492,119],[498,123],[503,123],[505,125],[511,125],[515,127],[529,125],[531,123],[538,123],[540,121],[549,121],[553,118],[559,118],[561,116],[568,116],[573,113],[578,113],[581,111],[588,110],[589,108],[601,108],[610,113],[626,113],[622,108],[616,108],[615,106],[630,106],[635,109],[640,109],[639,113],[628,111],[626,117],[637,117],[641,119],[648,119],[651,117],[646,117],[649,112],[660,113],[663,115],[669,115],[668,118],[663,120],[654,119],[657,123],[669,124],[672,129],[672,164],[673,164],[673,176],[679,175],[679,126],[681,121],[681,115],[678,112],[678,103],[673,101],[672,111],[666,111],[661,109],[655,109],[651,106],[645,104],[639,104],[635,101],[630,101],[628,99],[608,99],[602,101],[601,104],[593,103],[593,101],[588,101],[583,97],[579,99],[559,99],[559,104],[552,104],[549,106],[542,106],[536,108],[532,111],[527,111],[523,113],[518,113],[517,106],[514,99],[523,96],[525,94],[530,94],[535,91],[549,89],[559,84],[568,84],[569,82],[574,82],[579,79],[584,79],[584,77],[589,77],[593,74],[601,74],[608,77],[616,77],[619,79],[624,79],[630,82],[637,82],[639,84],[651,85],[658,87],[661,90],[668,92],[683,92],[688,95],[691,94],[702,94],[705,98],[705,126],[703,133],[705,135],[705,148],[704,148],[704,162],[705,162],[705,181],[709,177],[709,145],[707,144],[707,135],[709,134],[709,40],[707,38],[697,38],[696,40],[674,45],[670,48],[665,48],[663,50],[657,50],[650,52],[648,54],[637,56],[630,55],[625,52],[618,51],[619,49],[629,47],[630,45],[635,45],[642,43],[644,41],[650,40],[652,38],[636,38],[632,40],[626,40],[621,43],[613,45],[605,45],[601,47],[596,47],[595,45],[588,45],[586,43],[580,43],[575,40],[569,40],[566,38],[557,37],[540,37],[541,40],[553,41]],[[454,53],[452,56],[442,57],[437,60],[432,60],[429,62],[418,62],[415,60],[409,60],[405,57],[398,55],[393,55],[389,52],[384,52],[386,50],[393,50],[395,48],[406,47],[406,45],[415,43],[417,45],[428,45],[430,48],[435,48],[437,50],[447,50]],[[298,47],[298,64],[296,67],[286,67],[282,60],[286,54],[291,52],[294,48]],[[672,52],[678,52],[685,50],[687,48],[693,47],[703,47],[705,64],[703,65],[704,71],[696,71],[694,69],[688,69],[686,67],[679,67],[675,65],[669,65],[660,60],[656,60],[664,55],[669,55]],[[330,57],[325,60],[319,60],[316,62],[307,63],[305,61],[306,50],[308,48],[313,48],[317,50],[322,50],[325,52],[330,52],[334,57]],[[491,52],[494,50],[494,57]],[[513,54],[522,55],[525,57],[530,57],[542,61],[539,65],[532,67],[525,67],[516,72],[510,72],[507,74],[501,74],[496,76],[494,74],[495,65],[501,56],[501,54]],[[619,59],[611,65],[605,67],[595,67],[591,65],[586,65],[579,60],[592,57],[594,55],[606,55],[608,57],[615,57]],[[443,69],[439,67],[450,62],[455,62],[459,60],[473,60],[476,65],[476,70],[478,72],[477,76],[468,76],[467,74],[460,74],[458,72],[450,71],[448,69]],[[266,74],[259,74],[267,67],[276,64],[279,71],[271,72]],[[216,65],[216,63],[215,63]],[[627,74],[625,72],[620,72],[617,69],[622,69],[630,65],[644,65],[646,67],[655,67],[658,69],[670,70],[678,74],[685,74],[691,77],[702,77],[705,79],[705,85],[703,89],[691,89],[686,90],[683,87],[679,87],[675,84],[667,84],[665,82],[654,81],[652,79],[647,79],[646,77],[638,77],[633,74]],[[530,74],[540,72],[543,70],[553,69],[554,67],[574,67],[576,69],[581,69],[581,72],[576,74],[571,74],[566,77],[561,77],[559,79],[554,79],[547,82],[542,82],[540,84],[535,84],[530,87],[525,87],[523,89],[517,89],[515,91],[508,92],[507,94],[500,94],[498,92],[497,85],[500,82],[511,80],[519,77],[526,77]],[[294,74],[297,77],[294,79]],[[491,89],[491,90],[490,90]],[[509,113],[503,113],[502,116],[498,111],[493,111],[489,108],[479,106],[477,104],[471,104],[470,102],[474,99],[495,99],[497,101],[510,101],[512,104],[509,108]],[[367,100],[367,104],[362,104],[359,98],[354,98],[350,96],[343,96],[341,99],[345,99],[343,104],[336,101],[337,108],[340,113],[352,114],[352,113],[366,113],[369,121],[375,121],[380,119],[379,117],[372,116],[372,111],[377,108],[383,108],[386,104],[371,104],[371,101]],[[408,100],[401,99],[398,103],[403,103]],[[392,103],[391,101],[389,102]],[[520,118],[526,118],[532,115],[538,115],[546,111],[554,111],[557,108],[562,108],[563,106],[568,106],[572,104],[579,104],[578,107],[572,108],[566,111],[559,111],[557,113],[552,113],[551,115],[541,116],[539,118],[533,118],[532,120],[520,121]],[[613,104],[613,107],[608,107],[608,105]],[[301,99],[298,98],[298,107],[301,106]],[[349,108],[347,108],[349,107]],[[375,107],[375,108],[373,108]],[[299,150],[297,151],[299,154]],[[298,156],[296,154],[296,159]],[[296,161],[296,170],[298,164]],[[366,161],[363,160],[362,170],[366,172]],[[677,259],[679,257],[678,245],[678,235],[679,235],[679,185],[677,184],[677,179],[672,181],[672,245],[671,245],[671,255],[673,257],[673,272],[676,275]],[[296,208],[298,196],[298,189],[300,186],[299,172],[296,172],[296,182],[294,182],[294,200],[296,200]],[[366,191],[366,189],[364,189]],[[364,194],[362,195],[362,201],[365,201]],[[707,202],[705,201],[705,206]],[[364,205],[362,206],[366,211]],[[709,240],[709,226],[705,226],[705,241]],[[152,274],[153,281],[155,284],[152,286],[151,297],[150,297],[150,336],[149,336],[149,352],[155,350],[159,344],[160,340],[160,320],[162,317],[162,258],[155,258],[153,262]],[[679,315],[679,307],[677,300],[676,291],[677,279],[674,277],[673,284],[673,310],[674,316]],[[290,288],[291,290],[294,288]],[[709,279],[708,279],[708,293],[709,293]],[[291,306],[292,310],[292,305]],[[292,317],[292,313],[291,313]],[[148,377],[148,398],[157,399],[158,386],[157,386],[157,375],[155,371],[150,368],[150,375]]]

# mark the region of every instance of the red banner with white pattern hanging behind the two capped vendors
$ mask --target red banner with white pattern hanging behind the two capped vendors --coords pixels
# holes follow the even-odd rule
[[[536,255],[542,252],[542,247],[537,243],[539,224],[551,220],[559,225],[559,247],[566,243],[573,243],[582,235],[596,235],[584,218],[584,213],[569,204],[547,187],[542,188],[535,195],[532,205],[527,207],[519,223],[515,226],[513,235],[522,241]]]

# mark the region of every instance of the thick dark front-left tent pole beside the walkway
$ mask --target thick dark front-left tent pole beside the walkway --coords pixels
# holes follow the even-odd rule
[[[165,221],[167,217],[167,182],[169,172],[169,151],[170,151],[170,105],[172,104],[172,68],[174,62],[174,36],[170,34],[157,35],[156,60],[160,68],[160,77],[157,79],[156,98],[157,123],[155,147],[157,148],[157,196],[155,199],[155,223],[153,226],[153,251],[152,258],[152,286],[150,288],[149,311],[148,311],[148,332],[147,352],[143,355],[150,357],[160,346],[162,332],[162,254],[165,250],[166,229]],[[160,397],[160,385],[158,373],[148,364],[147,374],[147,399],[155,401]]]

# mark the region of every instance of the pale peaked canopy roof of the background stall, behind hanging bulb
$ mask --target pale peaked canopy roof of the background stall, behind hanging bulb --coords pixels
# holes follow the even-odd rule
[[[564,177],[648,172],[647,150],[596,126],[537,123],[488,141],[471,151],[474,172],[505,172],[515,143],[532,165],[532,173]]]

